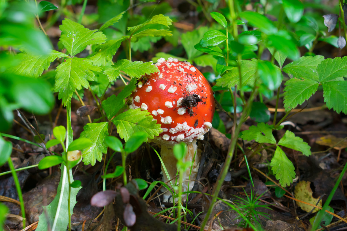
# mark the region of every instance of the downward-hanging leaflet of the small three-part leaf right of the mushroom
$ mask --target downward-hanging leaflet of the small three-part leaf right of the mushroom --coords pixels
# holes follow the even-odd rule
[[[293,179],[295,178],[294,165],[279,146],[277,146],[274,156],[271,159],[270,166],[282,187],[289,186],[293,183]]]

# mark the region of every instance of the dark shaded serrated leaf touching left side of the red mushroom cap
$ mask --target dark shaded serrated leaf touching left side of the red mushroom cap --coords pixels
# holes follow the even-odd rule
[[[136,78],[132,78],[127,86],[116,96],[111,95],[102,102],[102,108],[108,119],[111,119],[117,112],[125,106],[125,98],[132,94],[136,85]]]

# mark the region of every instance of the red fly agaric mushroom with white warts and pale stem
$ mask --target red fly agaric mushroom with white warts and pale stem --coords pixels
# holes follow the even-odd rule
[[[204,134],[212,127],[214,98],[209,82],[189,62],[160,58],[155,65],[159,72],[145,75],[139,80],[132,94],[130,108],[148,110],[161,124],[163,132],[154,138],[161,145],[160,155],[172,178],[177,172],[172,147],[185,142],[188,149],[185,161],[193,161],[197,151],[196,139],[203,140]],[[195,180],[200,156],[196,152],[192,173],[186,169],[184,175],[180,176],[183,181],[189,178]],[[161,168],[163,170],[163,166]],[[166,175],[163,176],[167,181]],[[189,190],[193,185],[189,184]],[[188,181],[183,183],[183,190],[188,190]]]

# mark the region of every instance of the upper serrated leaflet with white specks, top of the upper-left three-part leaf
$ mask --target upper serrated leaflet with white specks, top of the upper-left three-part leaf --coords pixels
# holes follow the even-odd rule
[[[98,30],[90,30],[79,23],[65,18],[62,20],[60,42],[65,46],[71,56],[83,51],[87,45],[101,44],[106,40],[106,36]]]

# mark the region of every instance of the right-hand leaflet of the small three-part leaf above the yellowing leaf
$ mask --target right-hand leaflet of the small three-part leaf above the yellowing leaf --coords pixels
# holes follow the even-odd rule
[[[304,142],[303,139],[295,136],[293,132],[290,132],[288,130],[280,139],[280,141],[278,141],[277,145],[282,145],[287,148],[302,152],[307,157],[311,155],[310,146],[308,146],[308,144]]]

